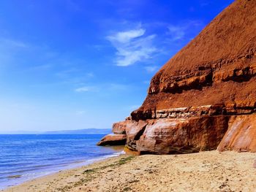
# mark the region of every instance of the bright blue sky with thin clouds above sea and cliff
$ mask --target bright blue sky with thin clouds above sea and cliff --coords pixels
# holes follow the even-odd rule
[[[0,1],[0,131],[110,128],[233,1]]]

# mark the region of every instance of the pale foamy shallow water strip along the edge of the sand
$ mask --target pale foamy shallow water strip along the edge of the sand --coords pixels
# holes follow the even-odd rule
[[[5,191],[9,188],[23,185],[23,183],[30,182],[31,180],[37,180],[43,177],[48,177],[49,175],[57,174],[59,172],[64,172],[67,170],[78,169],[83,166],[88,166],[90,164],[94,164],[99,161],[105,161],[108,158],[113,158],[113,157],[117,157],[119,155],[124,154],[124,150],[121,150],[121,149],[124,149],[124,146],[114,146],[112,148],[116,149],[117,151],[120,150],[120,152],[116,152],[110,155],[102,155],[99,157],[89,158],[86,160],[81,160],[81,159],[74,160],[74,161],[67,162],[66,164],[57,164],[56,167],[54,166],[52,167],[53,168],[52,170],[50,170],[50,167],[45,170],[39,169],[39,172],[31,173],[34,175],[31,177],[22,177],[23,174],[10,175],[7,177],[7,179],[11,181],[6,182],[8,183],[6,185],[2,185],[2,187],[0,188],[0,191]]]

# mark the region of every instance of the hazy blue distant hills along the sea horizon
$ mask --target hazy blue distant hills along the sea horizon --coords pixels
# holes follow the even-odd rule
[[[84,128],[61,131],[0,131],[0,134],[110,134],[110,128]]]

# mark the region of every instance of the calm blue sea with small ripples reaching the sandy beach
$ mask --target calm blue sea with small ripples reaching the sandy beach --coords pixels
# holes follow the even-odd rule
[[[0,189],[121,153],[99,147],[104,135],[0,135]]]

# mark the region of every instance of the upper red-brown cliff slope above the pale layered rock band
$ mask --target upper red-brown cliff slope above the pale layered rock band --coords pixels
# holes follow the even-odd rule
[[[256,1],[230,4],[162,66],[141,110],[256,101]]]

